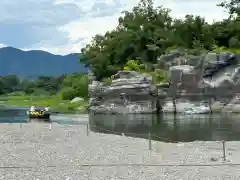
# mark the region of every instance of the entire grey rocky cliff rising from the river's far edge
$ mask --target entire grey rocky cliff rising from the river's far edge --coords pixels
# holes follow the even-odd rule
[[[175,65],[169,68],[170,83],[156,86],[151,76],[134,71],[119,71],[112,76],[111,84],[95,81],[90,73],[90,112],[185,112],[187,108],[206,113],[212,107],[221,110],[219,104],[226,106],[222,110],[232,108],[229,103],[235,103],[233,99],[240,93],[240,55],[209,53],[194,57],[199,60],[195,65],[184,64],[189,57],[179,52],[162,56],[160,61],[167,59]]]

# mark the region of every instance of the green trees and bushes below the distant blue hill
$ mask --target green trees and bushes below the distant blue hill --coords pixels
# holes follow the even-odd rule
[[[0,77],[0,95],[19,92],[36,96],[59,94],[63,100],[72,100],[74,97],[86,99],[88,77],[80,73],[59,77],[40,76],[37,80],[20,80],[16,75]]]

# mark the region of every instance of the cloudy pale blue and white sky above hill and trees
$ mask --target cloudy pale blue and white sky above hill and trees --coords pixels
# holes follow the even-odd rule
[[[171,15],[201,15],[207,21],[227,18],[221,0],[155,0]],[[80,52],[95,34],[117,26],[124,10],[138,0],[0,0],[0,47],[39,49],[53,54]]]

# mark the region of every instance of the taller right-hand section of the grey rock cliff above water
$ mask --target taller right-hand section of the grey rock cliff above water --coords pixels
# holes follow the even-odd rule
[[[223,104],[222,107],[215,106],[220,111],[230,109],[224,108],[225,106],[234,108],[232,102],[235,101],[232,99],[240,93],[239,57],[231,53],[209,53],[195,67],[172,66],[170,68],[172,89],[177,94],[186,95],[184,98],[178,98],[177,101],[182,103],[182,99],[185,99],[192,104],[201,104],[202,101],[207,102],[208,106]],[[182,108],[177,108],[177,111],[180,109]]]

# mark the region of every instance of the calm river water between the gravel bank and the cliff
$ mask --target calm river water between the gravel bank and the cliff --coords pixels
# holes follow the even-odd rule
[[[64,115],[51,121],[82,125],[94,132],[120,134],[167,142],[240,140],[240,115]],[[0,109],[0,123],[31,123],[25,109]],[[48,122],[46,122],[48,123]]]

